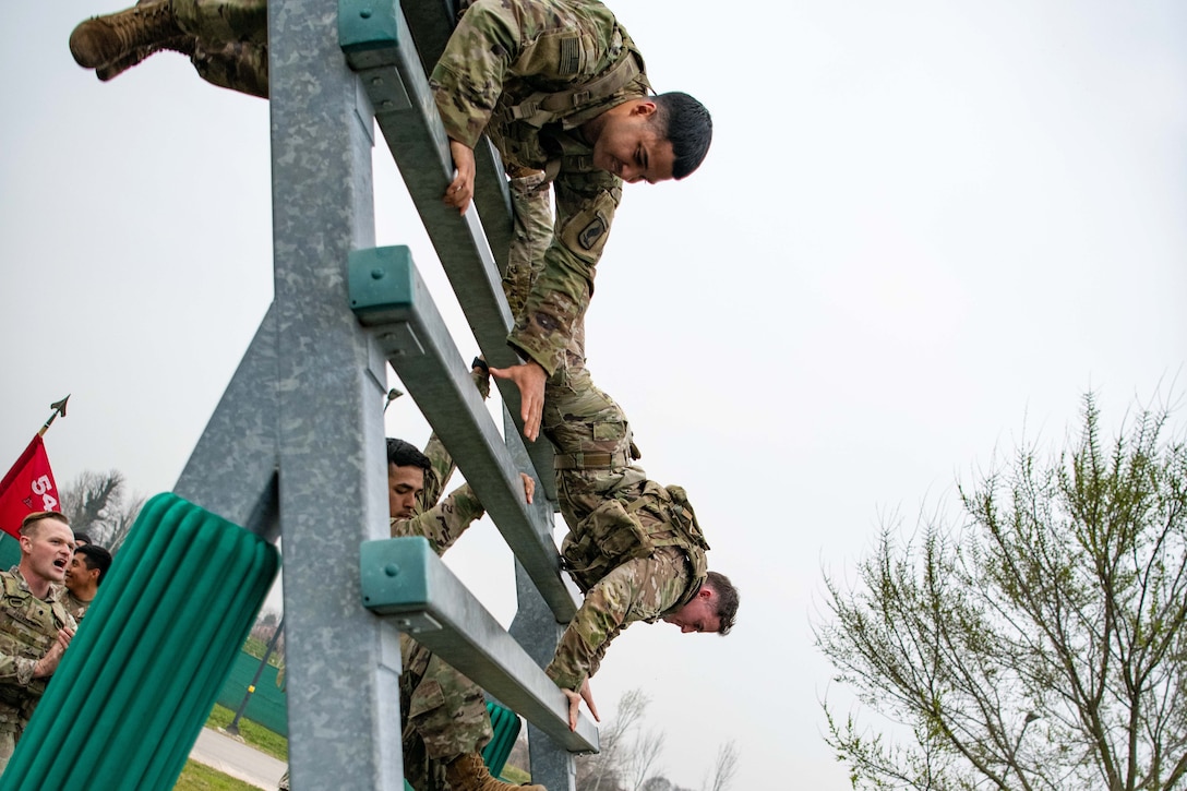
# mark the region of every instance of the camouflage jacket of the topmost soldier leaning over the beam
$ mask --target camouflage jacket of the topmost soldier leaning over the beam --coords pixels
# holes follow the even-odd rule
[[[532,105],[533,96],[586,86],[630,57],[637,76],[608,96],[575,97],[563,110]],[[485,133],[506,163],[553,177],[557,233],[508,336],[551,374],[589,305],[594,270],[622,200],[622,179],[594,167],[592,147],[578,127],[648,95],[642,57],[596,0],[480,0],[458,23],[430,84],[452,139],[474,147]]]

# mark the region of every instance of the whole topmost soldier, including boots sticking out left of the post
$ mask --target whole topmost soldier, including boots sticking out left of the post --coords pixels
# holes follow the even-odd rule
[[[163,50],[189,55],[209,82],[267,96],[266,0],[141,0],[70,37],[75,59],[100,80]],[[545,379],[561,366],[594,293],[622,183],[697,170],[712,120],[687,94],[652,95],[642,56],[597,0],[476,0],[430,84],[457,167],[447,205],[470,205],[483,134],[509,167],[541,170],[556,190],[556,232],[508,336],[525,360],[514,380],[523,436],[534,441]]]

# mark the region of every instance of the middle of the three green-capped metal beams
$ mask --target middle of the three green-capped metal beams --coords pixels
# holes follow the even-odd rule
[[[567,624],[579,594],[560,571],[552,525],[523,502],[513,460],[521,441],[509,435],[509,449],[499,435],[408,248],[351,252],[348,286],[358,321],[374,330],[380,349],[457,460],[557,622]]]

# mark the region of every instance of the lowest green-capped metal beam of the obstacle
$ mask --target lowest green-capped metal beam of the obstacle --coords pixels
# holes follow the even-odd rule
[[[465,673],[570,752],[597,752],[597,729],[569,729],[569,700],[423,537],[364,542],[358,550],[363,606]]]

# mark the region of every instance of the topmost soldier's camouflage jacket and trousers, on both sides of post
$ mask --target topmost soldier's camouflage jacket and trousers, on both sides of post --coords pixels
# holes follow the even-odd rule
[[[173,49],[216,86],[268,95],[266,0],[169,4],[176,27],[140,48],[135,62]],[[508,335],[525,359],[552,374],[594,295],[595,267],[622,200],[622,179],[594,166],[594,147],[579,127],[646,97],[650,83],[630,36],[597,0],[461,5],[469,7],[430,86],[449,137],[472,148],[487,134],[509,169],[542,170],[556,189],[557,234]]]

